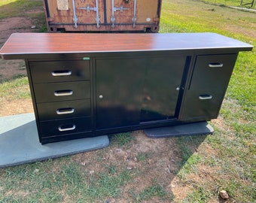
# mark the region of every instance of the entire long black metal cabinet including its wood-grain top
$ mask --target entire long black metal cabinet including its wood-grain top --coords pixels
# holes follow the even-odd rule
[[[42,144],[218,117],[239,51],[214,33],[13,34]]]

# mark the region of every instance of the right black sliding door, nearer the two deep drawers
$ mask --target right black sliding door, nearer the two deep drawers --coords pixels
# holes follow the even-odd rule
[[[147,59],[142,95],[142,122],[175,117],[186,58],[157,56]]]

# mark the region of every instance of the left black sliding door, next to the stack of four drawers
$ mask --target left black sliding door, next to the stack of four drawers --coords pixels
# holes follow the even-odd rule
[[[140,122],[145,59],[96,59],[96,129]]]

